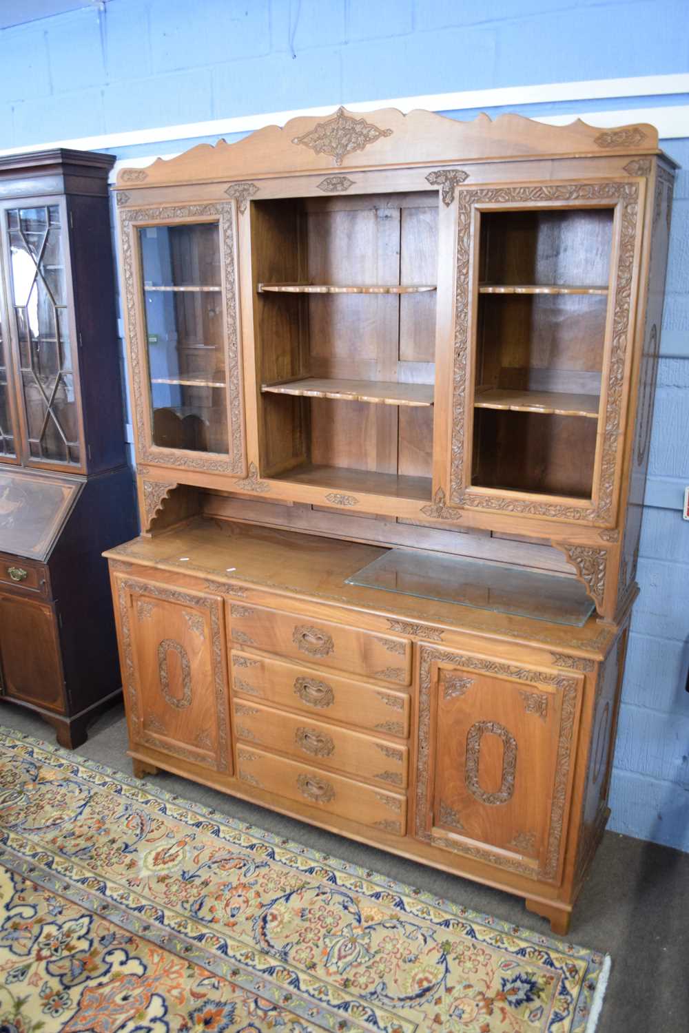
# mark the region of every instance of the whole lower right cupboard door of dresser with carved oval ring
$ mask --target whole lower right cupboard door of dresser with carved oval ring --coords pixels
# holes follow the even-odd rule
[[[420,664],[417,837],[558,881],[582,676],[429,646]]]

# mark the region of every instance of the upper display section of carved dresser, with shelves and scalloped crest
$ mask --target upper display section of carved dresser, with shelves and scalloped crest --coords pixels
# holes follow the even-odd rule
[[[462,532],[438,547],[481,558],[526,538],[612,619],[674,167],[648,125],[341,108],[122,169],[144,527],[207,507],[194,488],[290,527]]]

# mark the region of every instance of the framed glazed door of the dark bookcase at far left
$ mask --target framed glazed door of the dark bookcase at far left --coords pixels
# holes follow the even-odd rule
[[[64,197],[5,202],[0,209],[14,403],[28,466],[85,469],[68,209]],[[0,370],[0,413],[7,406],[8,342]],[[2,416],[0,415],[0,420]],[[5,414],[7,420],[7,414]],[[6,434],[3,426],[3,436]],[[9,444],[9,443],[8,443]]]

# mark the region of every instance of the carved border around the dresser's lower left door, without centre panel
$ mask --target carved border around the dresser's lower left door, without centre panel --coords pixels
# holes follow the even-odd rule
[[[179,602],[195,608],[202,607],[208,611],[211,624],[211,647],[213,651],[213,681],[215,688],[216,714],[218,723],[218,771],[228,771],[228,742],[229,730],[227,725],[227,715],[229,713],[229,702],[225,690],[225,679],[223,677],[223,636],[220,628],[220,604],[211,598],[202,595],[190,595],[181,592],[179,589],[163,588],[159,585],[149,585],[144,582],[129,581],[128,578],[118,580],[118,601],[120,606],[120,622],[122,627],[121,644],[123,671],[122,682],[125,697],[127,700],[127,715],[132,725],[132,730],[136,741],[152,749],[160,749],[157,740],[149,734],[144,726],[143,714],[139,712],[139,696],[136,686],[136,672],[134,668],[134,655],[131,638],[131,627],[129,624],[128,595],[152,595],[156,599],[163,599],[167,602]],[[169,753],[184,757],[198,764],[210,764],[216,766],[208,757],[199,756],[191,750],[185,750],[184,746],[166,741],[165,750]]]

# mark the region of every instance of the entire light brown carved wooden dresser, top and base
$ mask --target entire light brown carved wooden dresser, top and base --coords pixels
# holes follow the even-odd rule
[[[340,108],[120,173],[138,776],[567,931],[608,814],[674,168],[649,125]]]

